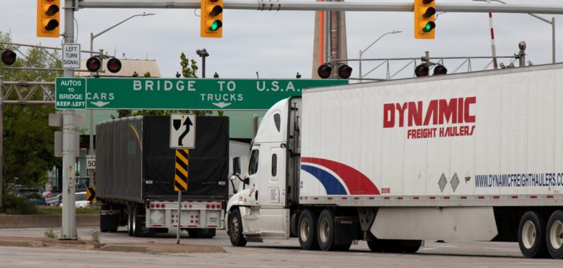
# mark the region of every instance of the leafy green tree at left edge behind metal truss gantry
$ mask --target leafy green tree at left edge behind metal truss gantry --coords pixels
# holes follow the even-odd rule
[[[2,42],[11,42],[10,33],[0,31]],[[15,49],[19,48],[13,48]],[[23,51],[21,49],[21,51]],[[61,68],[57,52],[33,48],[18,54],[14,67]],[[1,62],[0,62],[1,65]],[[61,71],[0,70],[2,81],[54,81]],[[30,100],[46,100],[43,90],[31,92],[21,88],[23,94],[32,93]],[[54,88],[47,88],[47,94],[54,95]],[[16,92],[8,98],[15,99]],[[49,113],[55,113],[54,105],[4,105],[3,115],[3,187],[11,183],[40,187],[47,183],[47,172],[61,159],[53,155],[54,131],[49,126]],[[17,180],[16,180],[17,179]]]

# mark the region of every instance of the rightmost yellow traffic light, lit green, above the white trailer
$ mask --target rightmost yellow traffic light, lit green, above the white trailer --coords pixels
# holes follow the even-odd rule
[[[436,28],[434,0],[414,0],[414,38],[434,39]]]

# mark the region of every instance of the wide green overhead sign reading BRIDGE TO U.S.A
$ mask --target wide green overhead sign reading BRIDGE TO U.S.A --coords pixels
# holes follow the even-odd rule
[[[84,78],[82,78],[84,79]],[[79,79],[76,79],[77,81]],[[303,88],[347,84],[335,79],[87,78],[87,109],[264,110]],[[59,79],[57,80],[59,81]],[[83,83],[86,85],[86,83]],[[66,94],[59,82],[55,92]],[[66,89],[66,91],[65,91]],[[84,109],[57,105],[57,109]]]

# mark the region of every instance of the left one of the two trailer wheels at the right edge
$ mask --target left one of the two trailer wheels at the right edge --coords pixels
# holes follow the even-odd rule
[[[545,216],[536,211],[527,211],[518,224],[518,245],[526,258],[544,258],[547,256]]]

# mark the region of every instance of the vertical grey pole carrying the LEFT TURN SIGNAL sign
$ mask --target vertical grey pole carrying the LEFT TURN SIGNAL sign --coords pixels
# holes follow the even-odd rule
[[[74,43],[74,0],[64,0],[64,43]],[[64,77],[74,77],[65,69]],[[62,226],[60,239],[77,240],[75,211],[75,111],[62,111]]]

